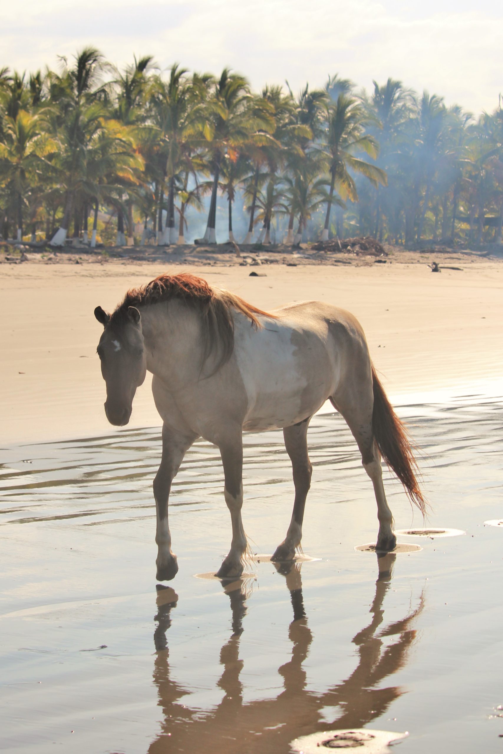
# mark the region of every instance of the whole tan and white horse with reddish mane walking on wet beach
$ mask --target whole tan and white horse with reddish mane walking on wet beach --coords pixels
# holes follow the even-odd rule
[[[98,306],[94,315],[103,325],[97,353],[112,425],[127,425],[136,388],[147,371],[153,375],[152,393],[163,421],[154,480],[158,581],[170,581],[178,571],[168,499],[182,459],[199,437],[219,448],[232,523],[231,548],[216,576],[241,576],[247,553],[241,520],[244,431],[283,429],[295,499],[287,535],[272,559],[294,558],[311,485],[308,425],[327,399],[347,422],[373,483],[376,549],[389,552],[396,546],[381,458],[425,515],[406,429],[379,382],[363,329],[348,311],[316,301],[263,311],[181,273],[161,274],[127,291],[112,314]]]

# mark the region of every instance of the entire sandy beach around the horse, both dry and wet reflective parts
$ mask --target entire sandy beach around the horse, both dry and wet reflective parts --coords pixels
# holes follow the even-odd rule
[[[218,449],[198,441],[170,496],[179,573],[156,587],[158,417],[146,384],[130,426],[107,424],[93,309],[186,266],[0,264],[0,749],[288,754],[365,728],[409,731],[403,754],[499,751],[501,527],[485,522],[501,520],[503,265],[432,274],[404,256],[249,277],[218,261],[191,269],[265,308],[316,298],[357,314],[421,449],[428,530],[459,535],[406,535],[423,522],[385,470],[401,547],[358,551],[376,541],[376,503],[332,412],[309,429],[304,562],[195,578],[231,539]],[[293,504],[281,431],[245,434],[244,499],[253,553],[273,552]]]

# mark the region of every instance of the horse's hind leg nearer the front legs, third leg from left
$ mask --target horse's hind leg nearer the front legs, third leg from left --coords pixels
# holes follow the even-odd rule
[[[293,470],[293,484],[295,486],[295,502],[293,503],[292,520],[288,527],[287,536],[276,548],[273,560],[291,560],[302,539],[302,520],[304,519],[305,498],[311,486],[312,466],[308,456],[308,425],[309,416],[293,427],[285,427],[283,436],[287,453],[290,455]]]

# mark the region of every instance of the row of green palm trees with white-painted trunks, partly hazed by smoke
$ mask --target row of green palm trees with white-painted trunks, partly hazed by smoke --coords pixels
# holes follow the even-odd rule
[[[206,209],[201,241],[213,244],[222,198],[225,241],[239,199],[245,243],[279,228],[287,243],[501,242],[501,102],[474,118],[400,81],[357,93],[337,75],[297,96],[253,93],[229,69],[163,73],[143,57],[118,70],[94,48],[62,58],[58,72],[0,69],[4,238],[58,246],[72,234],[94,246],[113,221],[115,243],[133,244],[141,220],[143,243],[184,243],[188,217]]]

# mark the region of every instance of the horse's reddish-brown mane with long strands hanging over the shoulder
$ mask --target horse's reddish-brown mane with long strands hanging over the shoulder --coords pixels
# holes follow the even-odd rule
[[[202,363],[213,351],[219,351],[213,373],[232,355],[234,350],[234,320],[232,310],[241,311],[254,327],[261,327],[257,314],[275,317],[267,311],[247,303],[235,293],[211,287],[202,277],[190,272],[176,275],[161,274],[150,283],[131,288],[110,317],[110,325],[121,326],[127,319],[130,306],[140,307],[173,300],[182,301],[201,315],[203,354]],[[202,366],[202,365],[201,365]]]

